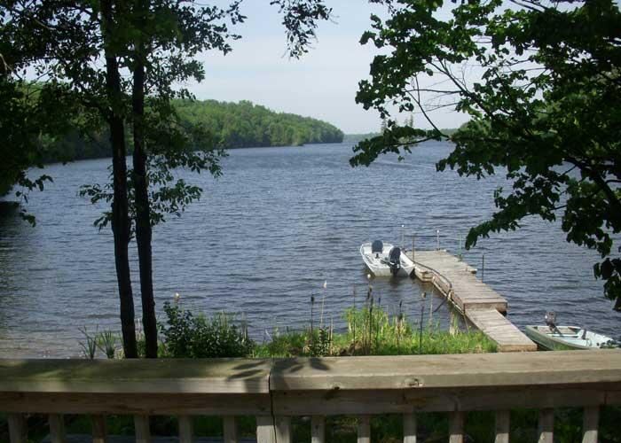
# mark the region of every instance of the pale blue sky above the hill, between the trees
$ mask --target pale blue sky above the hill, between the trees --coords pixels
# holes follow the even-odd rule
[[[225,4],[225,2],[216,2]],[[232,52],[200,55],[206,78],[189,84],[198,99],[237,102],[250,100],[273,111],[296,113],[326,120],[346,134],[378,131],[381,120],[355,101],[358,82],[369,77],[377,49],[359,43],[370,29],[371,13],[382,14],[366,0],[331,0],[334,19],[322,22],[311,51],[296,60],[286,54],[285,28],[270,0],[245,0],[245,23],[234,28],[242,38]],[[405,115],[397,120],[405,120]],[[420,128],[428,128],[414,117]],[[455,128],[464,118],[456,113],[436,115],[441,128]]]

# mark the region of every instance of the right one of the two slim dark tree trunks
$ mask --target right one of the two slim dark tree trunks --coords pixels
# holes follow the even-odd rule
[[[157,357],[157,323],[153,299],[153,256],[151,250],[151,208],[149,206],[145,152],[145,43],[141,30],[145,23],[145,1],[136,0],[138,38],[132,89],[134,123],[134,190],[136,198],[136,243],[140,267],[140,295],[142,298],[142,323],[145,330],[146,357]]]

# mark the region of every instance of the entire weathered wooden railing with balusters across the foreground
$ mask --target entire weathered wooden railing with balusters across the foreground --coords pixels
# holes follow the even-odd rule
[[[49,414],[52,443],[65,440],[64,414],[92,417],[95,443],[107,414],[178,416],[179,439],[193,440],[191,416],[223,416],[224,441],[237,440],[235,416],[256,416],[259,442],[287,442],[291,416],[311,416],[313,442],[325,416],[358,416],[358,442],[371,441],[369,417],[401,414],[404,441],[416,441],[417,412],[450,414],[450,441],[463,439],[464,413],[496,411],[496,442],[507,442],[509,410],[539,408],[538,441],[552,442],[554,408],[584,407],[584,438],[596,442],[599,408],[621,403],[621,351],[461,354],[282,360],[4,360],[0,412],[12,443],[25,441],[25,413]]]

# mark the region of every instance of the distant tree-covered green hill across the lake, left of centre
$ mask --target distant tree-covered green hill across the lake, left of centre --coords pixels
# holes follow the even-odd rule
[[[342,130],[326,121],[293,113],[277,113],[249,101],[239,103],[216,100],[174,100],[182,120],[201,124],[224,148],[300,146],[303,144],[342,143]],[[131,146],[128,145],[128,153]],[[74,159],[110,157],[105,130],[85,139],[77,131],[51,144],[47,163]]]

